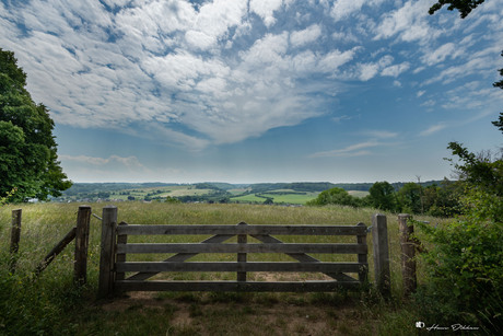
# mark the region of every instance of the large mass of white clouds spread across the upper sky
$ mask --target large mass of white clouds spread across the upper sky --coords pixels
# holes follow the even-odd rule
[[[2,2],[0,44],[16,53],[28,91],[56,123],[144,131],[189,151],[328,115],[324,96],[334,103],[340,88],[358,79],[387,76],[401,85],[399,76],[422,62],[411,76],[421,72],[413,79],[418,97],[430,97],[428,85],[471,74],[491,82],[501,68],[500,47],[492,43],[501,40],[501,28],[493,18],[487,16],[495,33],[483,37],[493,46],[478,48],[466,26],[470,35],[459,43],[436,40],[437,16],[426,14],[425,0],[396,1],[396,9],[378,18],[374,11],[383,2]],[[335,23],[347,18],[351,24]],[[442,27],[449,38],[464,28],[451,22]],[[431,74],[429,67],[437,65],[440,72]],[[454,106],[460,92],[435,102]],[[472,97],[480,104],[488,96],[480,91]]]

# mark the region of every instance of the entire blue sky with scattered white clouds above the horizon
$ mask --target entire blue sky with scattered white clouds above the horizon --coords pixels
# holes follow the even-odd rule
[[[26,0],[0,47],[74,182],[408,182],[498,149],[503,0]]]

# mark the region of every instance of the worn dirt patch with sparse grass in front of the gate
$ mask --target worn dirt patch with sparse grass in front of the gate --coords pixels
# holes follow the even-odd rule
[[[372,335],[374,323],[351,302],[314,294],[130,292],[102,309],[165,315],[166,335]]]

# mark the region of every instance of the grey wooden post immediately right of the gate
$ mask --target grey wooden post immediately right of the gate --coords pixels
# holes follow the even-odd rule
[[[390,294],[390,271],[386,216],[376,213],[372,217],[372,241],[374,244],[375,282],[379,292],[387,297]]]

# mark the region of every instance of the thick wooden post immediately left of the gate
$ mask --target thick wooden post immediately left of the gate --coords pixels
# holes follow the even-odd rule
[[[106,298],[114,291],[115,236],[117,225],[117,207],[103,208],[102,245],[100,254],[98,298]]]

